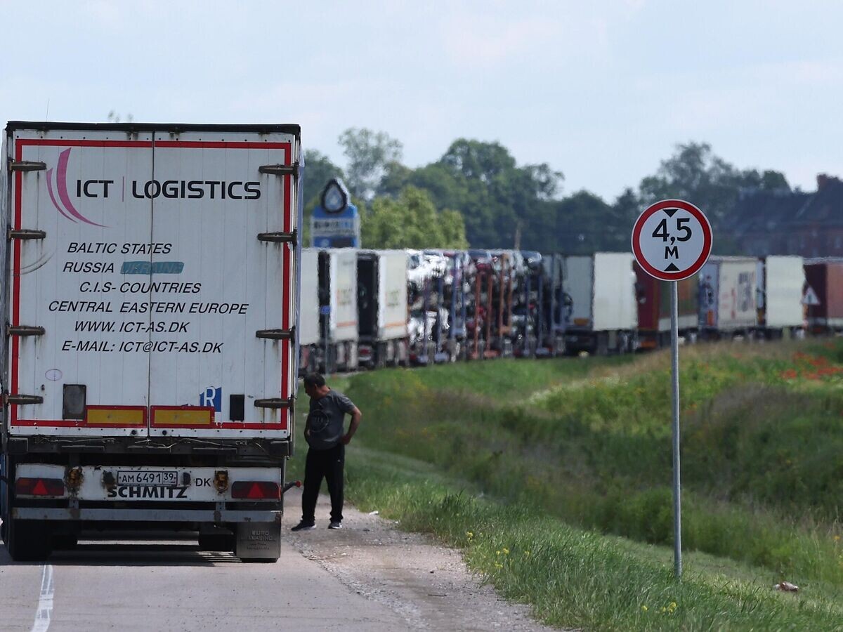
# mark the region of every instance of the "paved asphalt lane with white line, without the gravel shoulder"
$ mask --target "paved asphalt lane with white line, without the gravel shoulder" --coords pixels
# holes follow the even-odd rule
[[[388,608],[282,547],[241,563],[188,542],[83,542],[48,565],[0,554],[0,629],[405,629]]]

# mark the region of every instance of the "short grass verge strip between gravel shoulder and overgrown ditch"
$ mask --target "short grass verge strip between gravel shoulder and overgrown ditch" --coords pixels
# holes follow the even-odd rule
[[[472,570],[503,597],[529,603],[548,624],[585,629],[843,629],[839,589],[808,582],[797,594],[781,577],[706,554],[572,528],[541,511],[478,498],[478,489],[429,464],[359,446],[347,459],[348,498],[400,528],[463,550]],[[836,597],[836,598],[835,598]],[[672,605],[673,604],[673,605]],[[646,608],[646,609],[645,609]]]

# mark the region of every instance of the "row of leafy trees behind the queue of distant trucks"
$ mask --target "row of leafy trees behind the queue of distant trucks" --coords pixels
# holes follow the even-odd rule
[[[737,169],[706,142],[677,145],[654,174],[611,203],[585,190],[562,197],[560,171],[546,163],[518,165],[499,142],[459,138],[436,162],[416,169],[401,163],[401,143],[384,132],[352,128],[340,144],[348,158],[346,184],[371,209],[362,212],[362,232],[373,248],[628,250],[632,223],[653,201],[692,201],[717,231],[742,192],[790,190],[781,172]],[[306,157],[317,193],[341,173],[322,154]],[[717,244],[720,252],[737,252],[725,238]]]

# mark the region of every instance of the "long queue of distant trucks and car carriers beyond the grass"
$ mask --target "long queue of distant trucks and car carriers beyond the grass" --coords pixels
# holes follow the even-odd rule
[[[631,253],[303,249],[299,372],[669,344],[668,285]],[[843,329],[843,261],[711,257],[679,281],[686,343]]]

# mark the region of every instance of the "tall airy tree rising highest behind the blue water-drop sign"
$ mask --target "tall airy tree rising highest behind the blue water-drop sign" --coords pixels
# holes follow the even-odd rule
[[[400,163],[404,147],[384,131],[351,127],[339,141],[348,158],[348,190],[369,201],[392,163]]]

